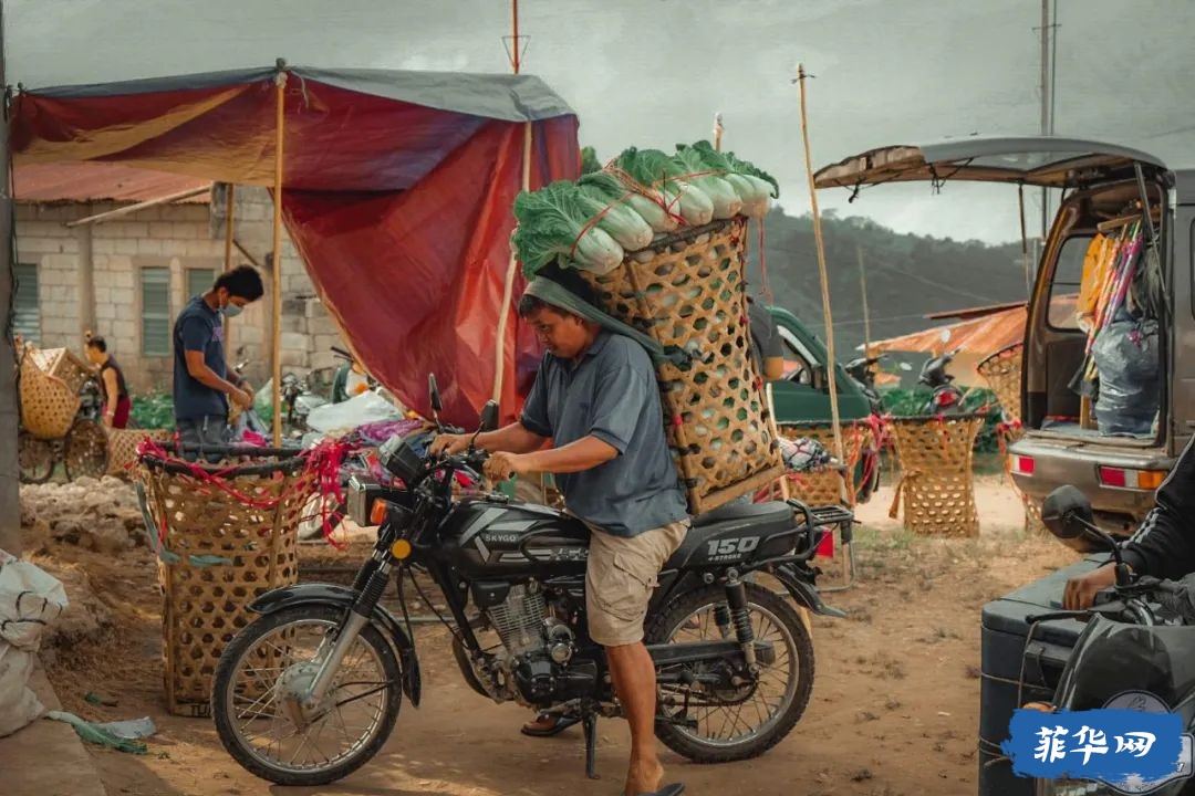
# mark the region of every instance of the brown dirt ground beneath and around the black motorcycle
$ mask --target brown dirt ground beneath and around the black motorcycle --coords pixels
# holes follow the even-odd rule
[[[124,487],[103,485],[109,494],[120,489]],[[133,526],[125,498],[117,510],[100,507],[94,513],[106,523]],[[980,609],[1074,561],[1076,554],[1049,538],[1027,538],[1021,504],[997,476],[979,480],[983,527],[974,539],[913,537],[888,518],[890,500],[885,488],[860,507],[856,582],[826,596],[850,618],[815,619],[816,677],[803,720],[756,760],[697,766],[667,752],[669,779],[684,780],[686,792],[975,792]],[[65,578],[76,597],[78,627],[45,654],[54,686],[66,709],[84,717],[152,716],[158,723],[146,755],[88,747],[111,796],[620,792],[627,754],[623,722],[599,724],[601,779],[587,780],[580,728],[550,740],[521,736],[517,729],[527,711],[495,705],[470,691],[452,662],[446,633],[433,625],[416,633],[423,704],[403,705],[393,736],[373,761],[318,790],[256,779],[223,752],[209,720],[165,711],[160,597],[151,553],[133,542],[91,538],[87,531],[96,522],[67,525],[65,532],[60,525],[42,519],[26,529],[31,557]],[[94,598],[86,597],[88,592]],[[86,702],[88,691],[114,698],[116,706]]]

